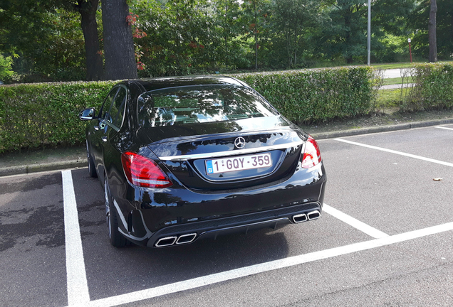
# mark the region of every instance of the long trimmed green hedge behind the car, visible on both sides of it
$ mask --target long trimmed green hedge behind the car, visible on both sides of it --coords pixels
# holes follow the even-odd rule
[[[375,90],[368,67],[234,75],[254,87],[295,123],[365,114]],[[100,107],[116,83],[68,82],[0,87],[0,152],[44,144],[81,144],[78,112]]]

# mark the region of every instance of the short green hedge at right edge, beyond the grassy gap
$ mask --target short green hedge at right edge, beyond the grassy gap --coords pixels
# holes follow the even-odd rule
[[[451,109],[453,107],[453,65],[450,63],[417,64],[412,70],[415,86],[410,88],[400,108],[402,111]]]

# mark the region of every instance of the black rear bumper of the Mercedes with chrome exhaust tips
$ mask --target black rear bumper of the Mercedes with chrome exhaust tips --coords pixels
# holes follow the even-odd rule
[[[120,232],[127,239],[147,247],[165,247],[304,222],[310,220],[311,212],[314,220],[322,212],[326,180],[320,163],[296,171],[287,181],[255,189],[197,193],[174,186],[150,193],[129,185],[124,191],[120,186],[115,189],[116,195],[126,197],[113,197],[123,215]]]

